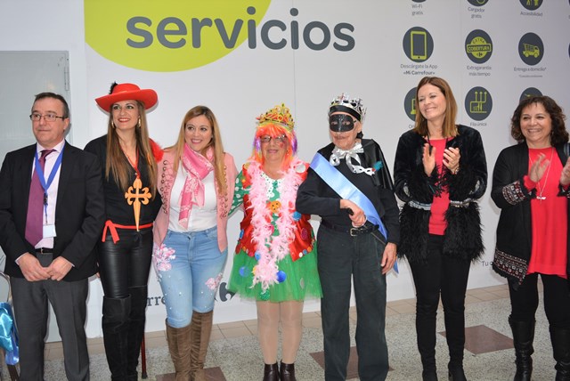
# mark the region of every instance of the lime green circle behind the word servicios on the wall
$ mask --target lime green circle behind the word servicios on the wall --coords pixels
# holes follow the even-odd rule
[[[199,68],[256,44],[270,0],[85,0],[85,42],[128,68]]]

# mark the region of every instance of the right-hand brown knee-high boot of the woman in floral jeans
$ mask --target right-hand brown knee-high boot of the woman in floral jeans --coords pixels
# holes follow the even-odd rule
[[[191,322],[191,379],[194,381],[206,381],[204,361],[208,353],[210,334],[212,333],[212,320],[214,311],[192,312]]]

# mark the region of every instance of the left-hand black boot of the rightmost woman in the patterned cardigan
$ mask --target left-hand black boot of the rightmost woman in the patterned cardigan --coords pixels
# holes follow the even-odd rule
[[[513,331],[513,344],[515,345],[515,355],[517,359],[517,373],[513,381],[530,381],[533,374],[534,353],[534,325],[535,321],[516,321],[509,317],[509,326]]]

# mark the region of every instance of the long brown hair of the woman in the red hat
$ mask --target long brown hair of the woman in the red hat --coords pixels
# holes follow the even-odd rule
[[[149,182],[152,197],[157,191],[157,163],[151,149],[151,139],[149,138],[149,129],[146,122],[146,111],[141,101],[136,101],[139,110],[139,124],[134,127],[134,136],[136,139],[136,150],[138,151],[139,160],[146,161],[149,167]],[[122,190],[127,190],[131,186],[129,173],[130,164],[125,160],[125,154],[121,150],[118,134],[113,123],[113,112],[109,115],[109,123],[107,126],[107,163],[105,165],[105,179],[109,180],[112,176],[113,180],[118,183]]]

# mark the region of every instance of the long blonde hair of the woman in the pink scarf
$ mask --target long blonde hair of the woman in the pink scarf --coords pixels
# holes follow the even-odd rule
[[[191,118],[199,117],[203,115],[208,119],[210,125],[212,126],[212,140],[208,142],[208,145],[200,152],[202,155],[206,153],[209,147],[214,149],[214,176],[216,177],[218,190],[222,194],[227,194],[228,184],[225,182],[225,171],[224,171],[224,144],[222,144],[222,135],[220,134],[220,127],[217,124],[217,119],[211,109],[206,106],[195,106],[186,112],[182,120],[182,125],[180,126],[180,132],[178,133],[178,139],[175,145],[167,148],[167,150],[174,151],[175,162],[174,162],[174,172],[178,171],[178,166],[180,166],[180,161],[184,154],[184,144],[185,140],[185,129],[186,123]]]

